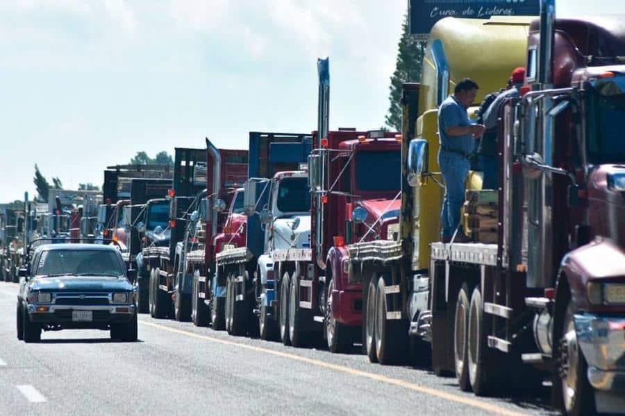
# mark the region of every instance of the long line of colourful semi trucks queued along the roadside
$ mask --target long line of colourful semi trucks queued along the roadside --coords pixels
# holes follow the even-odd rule
[[[620,18],[556,19],[542,0],[539,19],[442,19],[422,82],[403,85],[403,132],[328,130],[319,60],[312,134],[250,132],[248,150],[206,139],[176,148],[173,167],[110,166],[95,208],[55,198],[45,215],[6,211],[3,275],[19,266],[20,235],[113,239],[154,318],[331,352],[362,345],[372,363],[431,365],[476,395],[551,381],[566,413],[623,413]],[[473,242],[441,243],[437,106],[463,78],[483,98],[515,67],[526,83],[499,113],[499,189],[469,173]]]

